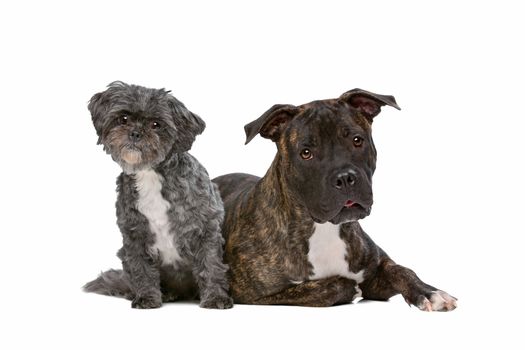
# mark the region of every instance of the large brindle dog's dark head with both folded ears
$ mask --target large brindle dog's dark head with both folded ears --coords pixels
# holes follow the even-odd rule
[[[360,89],[301,106],[275,105],[244,127],[246,143],[260,134],[277,144],[281,181],[314,221],[359,220],[372,207],[371,125],[385,105],[400,109],[393,96]]]

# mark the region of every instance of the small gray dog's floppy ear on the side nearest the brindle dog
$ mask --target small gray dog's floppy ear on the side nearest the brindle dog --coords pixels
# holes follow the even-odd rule
[[[177,152],[186,152],[191,149],[197,135],[202,134],[206,123],[195,113],[190,112],[182,102],[168,94],[168,106],[177,128]]]

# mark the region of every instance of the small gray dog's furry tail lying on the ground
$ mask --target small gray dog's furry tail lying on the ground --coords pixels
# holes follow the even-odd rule
[[[83,287],[85,292],[110,295],[120,298],[133,299],[129,281],[122,270],[108,270],[102,272],[95,280]]]

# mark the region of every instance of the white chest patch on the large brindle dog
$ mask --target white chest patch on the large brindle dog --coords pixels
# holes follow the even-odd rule
[[[308,261],[314,270],[311,280],[331,276],[343,276],[357,282],[363,282],[364,270],[357,273],[350,271],[348,266],[347,246],[339,235],[339,225],[329,222],[315,224],[315,231],[309,239],[310,250]]]

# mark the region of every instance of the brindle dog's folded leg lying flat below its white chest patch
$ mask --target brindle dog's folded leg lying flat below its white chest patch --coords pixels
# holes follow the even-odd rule
[[[354,280],[335,276],[303,282],[250,304],[326,307],[351,303],[359,295],[360,290]]]

